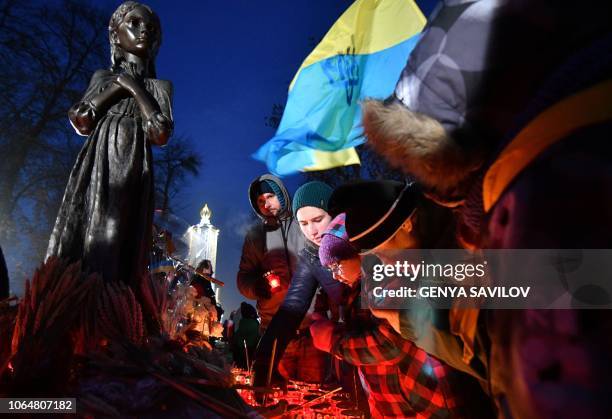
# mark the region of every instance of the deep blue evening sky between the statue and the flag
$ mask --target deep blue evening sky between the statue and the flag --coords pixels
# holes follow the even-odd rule
[[[177,134],[192,138],[204,165],[185,187],[178,216],[199,221],[205,202],[221,229],[216,276],[225,281],[227,312],[244,298],[235,277],[244,232],[252,220],[247,187],[264,173],[250,154],[274,134],[265,117],[284,104],[287,88],[347,0],[145,1],[160,16],[163,44],[157,73],[174,84]],[[419,1],[425,15],[436,1]],[[112,8],[120,2],[108,2]],[[172,144],[169,144],[171,147]],[[290,192],[301,176],[286,179]]]

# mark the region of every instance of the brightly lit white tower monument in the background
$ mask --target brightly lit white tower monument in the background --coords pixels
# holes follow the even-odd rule
[[[211,261],[213,271],[217,271],[217,239],[219,238],[219,229],[211,224],[212,211],[208,208],[208,204],[204,204],[204,208],[200,210],[200,222],[192,225],[185,233],[185,239],[189,245],[189,253],[187,262],[197,267],[204,259]],[[213,289],[217,293],[215,284]],[[218,295],[217,295],[218,298]],[[217,299],[217,301],[219,301]]]

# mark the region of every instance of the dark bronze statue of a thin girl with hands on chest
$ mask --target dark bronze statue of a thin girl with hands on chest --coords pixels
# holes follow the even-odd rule
[[[109,23],[111,62],[93,75],[70,122],[87,135],[72,169],[47,256],[82,260],[106,281],[137,284],[151,248],[151,143],[172,133],[172,85],[156,79],[157,15],[128,1]]]

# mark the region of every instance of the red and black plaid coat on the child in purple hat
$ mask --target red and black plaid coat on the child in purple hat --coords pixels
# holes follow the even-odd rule
[[[360,308],[359,289],[334,329],[332,354],[359,369],[374,418],[458,418],[453,370]]]

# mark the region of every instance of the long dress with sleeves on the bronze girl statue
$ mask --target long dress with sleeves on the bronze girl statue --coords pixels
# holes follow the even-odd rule
[[[112,83],[97,71],[83,101]],[[162,113],[172,117],[170,82],[145,79]],[[82,260],[106,281],[138,284],[146,273],[153,217],[153,161],[140,109],[131,96],[101,115],[70,174],[47,256]]]

